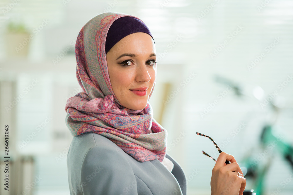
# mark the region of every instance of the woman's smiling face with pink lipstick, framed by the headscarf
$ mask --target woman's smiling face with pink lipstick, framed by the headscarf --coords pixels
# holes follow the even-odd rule
[[[151,36],[144,32],[130,34],[117,42],[106,58],[120,104],[132,110],[144,109],[156,80],[156,49]]]

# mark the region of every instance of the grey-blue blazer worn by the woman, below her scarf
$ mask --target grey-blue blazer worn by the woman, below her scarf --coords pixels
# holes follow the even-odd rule
[[[139,162],[108,138],[85,133],[74,137],[67,155],[71,195],[183,194],[185,174],[178,163],[172,173],[158,160]]]

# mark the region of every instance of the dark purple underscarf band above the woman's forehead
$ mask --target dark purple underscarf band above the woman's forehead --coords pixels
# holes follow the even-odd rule
[[[131,16],[123,16],[115,20],[110,26],[107,37],[105,51],[108,51],[121,39],[136,32],[147,33],[153,38],[149,28],[139,19]],[[154,39],[154,38],[153,38]]]

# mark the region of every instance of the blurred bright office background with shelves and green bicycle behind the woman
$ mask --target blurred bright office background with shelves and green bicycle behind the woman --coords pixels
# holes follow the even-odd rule
[[[0,151],[9,125],[11,194],[68,195],[72,135],[65,104],[81,92],[74,44],[106,12],[141,18],[158,56],[150,104],[188,194],[210,194],[218,152],[247,172],[247,189],[293,192],[293,1],[1,0]],[[263,139],[261,139],[263,135]],[[277,138],[278,137],[278,138]],[[291,156],[290,156],[291,155]],[[0,166],[0,194],[4,166]]]

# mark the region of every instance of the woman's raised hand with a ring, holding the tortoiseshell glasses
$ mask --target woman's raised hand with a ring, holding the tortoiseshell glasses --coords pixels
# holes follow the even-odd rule
[[[230,161],[231,164],[226,165],[226,160]],[[234,171],[238,171],[239,176]],[[243,172],[235,158],[230,154],[220,153],[212,170],[212,195],[242,195],[245,186],[246,179],[243,177]]]

